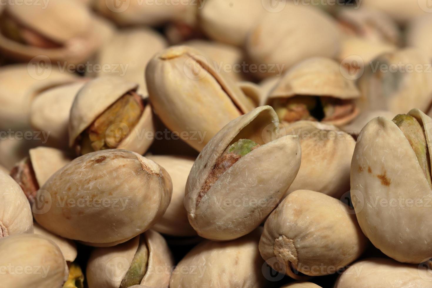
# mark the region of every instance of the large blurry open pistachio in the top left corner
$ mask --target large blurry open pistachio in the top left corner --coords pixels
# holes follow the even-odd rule
[[[10,0],[2,11],[0,51],[12,59],[78,64],[111,36],[111,26],[76,0],[36,2]]]

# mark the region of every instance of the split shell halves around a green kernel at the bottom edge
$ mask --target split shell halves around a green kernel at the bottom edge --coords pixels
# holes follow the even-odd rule
[[[117,246],[93,250],[86,271],[89,288],[119,288],[140,246],[140,237],[145,237],[144,244],[149,252],[144,266],[147,272],[140,285],[168,288],[174,261],[165,239],[151,229]]]

